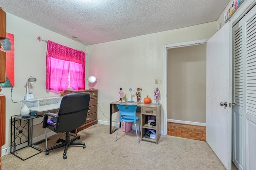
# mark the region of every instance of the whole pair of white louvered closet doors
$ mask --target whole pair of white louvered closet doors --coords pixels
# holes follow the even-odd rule
[[[256,170],[256,6],[233,27],[232,159],[239,170]]]

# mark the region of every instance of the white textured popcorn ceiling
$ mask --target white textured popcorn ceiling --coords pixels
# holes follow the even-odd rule
[[[230,0],[0,0],[15,16],[85,45],[216,21]]]

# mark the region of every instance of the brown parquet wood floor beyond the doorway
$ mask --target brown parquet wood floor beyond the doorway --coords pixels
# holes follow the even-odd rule
[[[206,127],[167,122],[167,135],[206,141]]]

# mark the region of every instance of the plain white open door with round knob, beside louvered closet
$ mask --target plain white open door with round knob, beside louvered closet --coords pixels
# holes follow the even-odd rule
[[[231,170],[232,25],[226,23],[206,43],[206,142]],[[220,103],[227,106],[220,106]]]

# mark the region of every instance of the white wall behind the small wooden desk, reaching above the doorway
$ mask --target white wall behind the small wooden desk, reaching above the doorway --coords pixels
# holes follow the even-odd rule
[[[147,95],[154,100],[154,90],[160,90],[163,102],[164,45],[208,39],[216,33],[216,21],[163,31],[128,39],[87,46],[88,74],[97,77],[98,120],[109,121],[110,102],[118,100],[122,87],[130,99],[136,88],[142,88],[142,99]],[[158,84],[154,84],[158,79]],[[133,97],[133,100],[136,100]],[[162,110],[163,111],[163,110]],[[163,114],[162,113],[162,117]],[[108,118],[106,118],[108,117]],[[163,122],[162,122],[163,125]],[[163,129],[163,126],[162,126]]]

